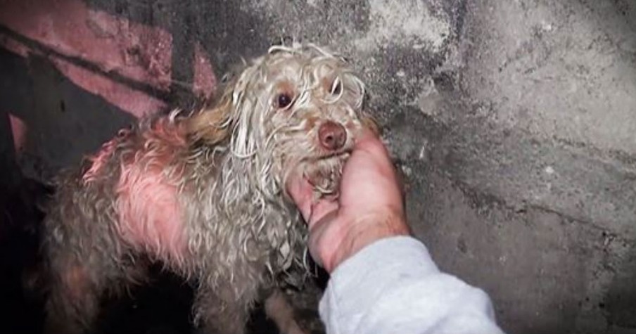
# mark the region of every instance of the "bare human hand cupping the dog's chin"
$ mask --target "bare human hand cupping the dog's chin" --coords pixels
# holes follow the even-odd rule
[[[314,200],[302,175],[291,176],[287,191],[309,225],[310,254],[330,273],[364,246],[410,233],[395,169],[371,131],[357,139],[336,200]]]

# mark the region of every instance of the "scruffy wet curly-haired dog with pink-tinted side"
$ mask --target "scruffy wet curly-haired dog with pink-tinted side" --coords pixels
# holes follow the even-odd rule
[[[341,56],[295,45],[272,46],[224,86],[207,108],[143,118],[56,179],[49,333],[91,328],[100,296],[143,283],[149,263],[193,285],[204,333],[244,333],[262,292],[303,272],[305,224],[284,184],[302,172],[317,196],[337,195],[356,136],[374,127],[364,84]]]

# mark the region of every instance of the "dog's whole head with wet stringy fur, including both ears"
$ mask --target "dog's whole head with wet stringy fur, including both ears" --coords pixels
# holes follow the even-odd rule
[[[248,177],[272,176],[278,190],[300,170],[319,193],[333,193],[360,130],[377,131],[363,100],[364,84],[341,56],[274,46],[231,79],[215,108],[194,117],[191,132],[212,144],[227,140],[255,168]]]

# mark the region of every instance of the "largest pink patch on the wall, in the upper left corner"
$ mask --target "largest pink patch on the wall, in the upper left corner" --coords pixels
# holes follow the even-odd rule
[[[20,13],[20,15],[16,15]],[[46,46],[157,89],[170,85],[170,33],[90,10],[81,0],[9,1],[0,22]]]

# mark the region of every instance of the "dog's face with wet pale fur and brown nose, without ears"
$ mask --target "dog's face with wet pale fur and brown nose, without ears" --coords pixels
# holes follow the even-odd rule
[[[284,179],[300,168],[332,193],[362,127],[364,85],[343,59],[319,49],[276,49],[256,71],[252,92],[276,172]]]

